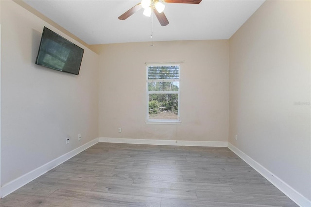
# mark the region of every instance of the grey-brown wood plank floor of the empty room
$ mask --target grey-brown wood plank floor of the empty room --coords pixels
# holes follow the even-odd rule
[[[228,148],[97,143],[1,207],[296,207]]]

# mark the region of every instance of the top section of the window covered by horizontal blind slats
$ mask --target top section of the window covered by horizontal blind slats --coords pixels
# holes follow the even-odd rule
[[[179,66],[149,66],[148,79],[179,79]]]

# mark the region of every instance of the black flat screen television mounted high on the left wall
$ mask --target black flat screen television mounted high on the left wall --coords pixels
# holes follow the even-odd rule
[[[79,75],[84,49],[43,28],[35,64]]]

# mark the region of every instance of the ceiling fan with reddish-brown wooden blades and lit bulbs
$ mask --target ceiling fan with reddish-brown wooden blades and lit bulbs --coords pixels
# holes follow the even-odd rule
[[[155,13],[155,17],[159,20],[161,26],[166,26],[169,24],[169,20],[167,20],[165,14],[163,13],[165,3],[191,3],[191,4],[199,4],[202,0],[141,0],[140,3],[136,4],[129,10],[127,10],[124,14],[118,17],[120,20],[125,20],[134,13],[138,12],[140,9],[144,9],[143,14],[147,17],[151,16],[152,11]]]

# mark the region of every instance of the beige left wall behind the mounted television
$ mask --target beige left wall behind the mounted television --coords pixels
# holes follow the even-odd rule
[[[76,43],[1,1],[2,185],[98,137],[98,55],[76,43],[85,49],[79,76],[35,65],[43,26]]]

